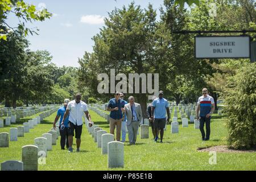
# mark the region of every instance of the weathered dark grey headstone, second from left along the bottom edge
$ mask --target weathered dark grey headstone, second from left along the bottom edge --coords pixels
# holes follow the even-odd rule
[[[24,171],[38,171],[38,147],[33,145],[22,147]]]

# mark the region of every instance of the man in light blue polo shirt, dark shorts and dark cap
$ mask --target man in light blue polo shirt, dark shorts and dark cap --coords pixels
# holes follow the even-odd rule
[[[158,130],[160,130],[160,143],[163,143],[164,127],[166,126],[166,111],[167,123],[170,120],[169,102],[163,98],[163,91],[159,91],[159,97],[152,102],[152,114],[155,127],[155,142],[158,141]]]

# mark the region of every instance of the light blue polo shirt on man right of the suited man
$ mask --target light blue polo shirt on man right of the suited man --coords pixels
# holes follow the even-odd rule
[[[162,119],[166,118],[166,108],[169,107],[169,102],[165,98],[156,98],[152,102],[152,106],[155,107],[154,118]]]

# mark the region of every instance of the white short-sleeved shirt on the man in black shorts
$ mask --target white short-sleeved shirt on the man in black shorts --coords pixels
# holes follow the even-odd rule
[[[80,101],[79,104],[76,104],[75,100],[70,101],[67,109],[70,110],[68,121],[77,126],[82,125],[82,116],[85,111],[88,111],[88,107],[85,102]]]

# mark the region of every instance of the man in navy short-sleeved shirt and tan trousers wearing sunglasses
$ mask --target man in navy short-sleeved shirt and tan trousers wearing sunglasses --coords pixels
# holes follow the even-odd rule
[[[120,99],[120,93],[115,92],[115,98],[112,98],[109,101],[109,105],[107,110],[110,111],[110,134],[115,133],[115,126],[117,127],[117,141],[120,141],[121,138],[121,127],[122,127],[122,120],[123,120],[123,109],[125,107],[125,101]]]

